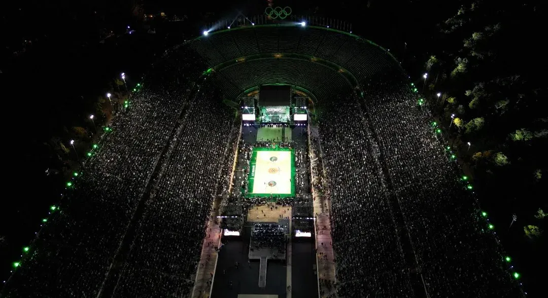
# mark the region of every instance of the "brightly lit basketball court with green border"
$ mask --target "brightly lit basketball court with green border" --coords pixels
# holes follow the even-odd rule
[[[249,162],[248,196],[295,196],[295,154],[287,148],[255,148]]]

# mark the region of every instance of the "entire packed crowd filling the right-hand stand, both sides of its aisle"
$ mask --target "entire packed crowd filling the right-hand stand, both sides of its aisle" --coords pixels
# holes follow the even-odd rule
[[[521,296],[430,114],[398,82],[318,103],[338,295]]]

